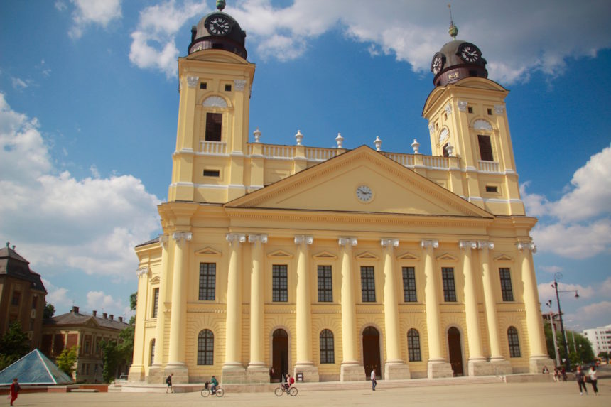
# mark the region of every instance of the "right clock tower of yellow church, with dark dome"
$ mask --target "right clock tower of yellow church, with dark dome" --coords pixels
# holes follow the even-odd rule
[[[433,55],[435,88],[422,112],[431,153],[460,159],[466,177],[453,192],[497,215],[524,215],[504,102],[509,91],[487,79],[482,51],[457,40],[453,22],[449,33],[453,40]]]

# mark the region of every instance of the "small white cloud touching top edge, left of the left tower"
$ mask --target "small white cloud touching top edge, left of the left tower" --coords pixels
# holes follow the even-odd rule
[[[80,38],[85,28],[90,24],[95,24],[107,28],[108,24],[114,19],[121,18],[121,0],[70,0],[75,5],[72,13],[74,26],[68,31],[71,38]],[[65,4],[55,3],[55,8],[63,11]]]

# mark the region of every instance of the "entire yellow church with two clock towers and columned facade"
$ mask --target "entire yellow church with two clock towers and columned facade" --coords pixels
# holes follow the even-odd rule
[[[136,246],[130,381],[538,373],[548,359],[504,99],[476,45],[433,56],[431,156],[249,141],[255,65],[218,11],[178,60],[163,234]]]

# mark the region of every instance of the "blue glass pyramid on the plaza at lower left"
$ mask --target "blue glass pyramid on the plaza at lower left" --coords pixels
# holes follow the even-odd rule
[[[0,371],[0,385],[11,384],[15,378],[19,384],[72,384],[70,376],[38,349]]]

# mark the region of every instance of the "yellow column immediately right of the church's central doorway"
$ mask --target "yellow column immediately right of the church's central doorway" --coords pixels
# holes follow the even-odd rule
[[[401,359],[399,336],[399,300],[397,299],[394,248],[399,239],[381,239],[384,248],[384,331],[386,337],[386,363],[384,379],[409,379],[409,367]]]

